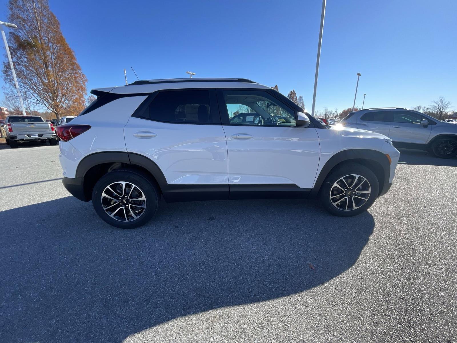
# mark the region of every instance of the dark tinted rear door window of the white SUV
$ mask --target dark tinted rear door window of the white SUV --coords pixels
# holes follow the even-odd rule
[[[213,123],[209,91],[161,91],[149,104],[149,118],[168,123]]]

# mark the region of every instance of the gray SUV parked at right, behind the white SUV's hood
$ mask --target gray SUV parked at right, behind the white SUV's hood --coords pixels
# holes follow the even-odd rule
[[[366,108],[350,112],[340,122],[388,136],[397,148],[427,150],[440,158],[457,155],[457,125],[400,107]]]

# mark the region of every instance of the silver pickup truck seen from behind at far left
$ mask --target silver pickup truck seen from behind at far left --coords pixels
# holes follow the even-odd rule
[[[46,123],[38,116],[8,116],[2,127],[5,134],[6,144],[11,148],[17,148],[18,143],[23,142],[49,142],[57,144],[57,136],[52,123]]]

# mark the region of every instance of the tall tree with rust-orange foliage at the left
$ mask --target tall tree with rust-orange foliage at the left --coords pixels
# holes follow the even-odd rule
[[[57,119],[78,114],[85,105],[87,79],[48,0],[10,0],[8,9],[8,21],[18,27],[10,32],[10,48],[21,91],[31,104],[48,109]],[[12,88],[6,62],[3,74]]]

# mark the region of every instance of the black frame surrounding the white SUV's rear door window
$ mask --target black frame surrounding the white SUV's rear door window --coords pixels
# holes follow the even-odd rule
[[[213,120],[213,123],[191,123],[191,122],[173,122],[173,121],[163,121],[151,119],[149,117],[149,105],[154,101],[154,98],[161,92],[166,91],[208,91],[209,92],[209,106],[210,114]],[[187,124],[187,125],[221,125],[221,116],[219,114],[218,101],[216,97],[216,91],[212,88],[177,88],[177,89],[161,89],[150,93],[149,96],[144,99],[144,101],[138,106],[138,108],[133,112],[132,117],[146,119],[158,123],[170,123],[170,124]]]

